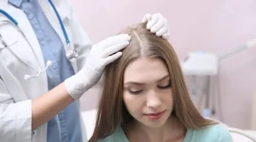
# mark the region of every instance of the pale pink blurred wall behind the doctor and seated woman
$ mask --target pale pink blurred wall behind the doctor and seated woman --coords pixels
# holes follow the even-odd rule
[[[247,43],[256,39],[255,0],[73,0],[72,4],[93,43],[117,34],[126,26],[137,24],[144,14],[163,14],[169,20],[170,43],[181,62],[186,61],[184,59],[188,59],[189,54],[199,52],[199,59],[209,59],[209,56],[203,56],[209,53],[213,60],[210,59],[213,65],[208,65],[216,67],[212,70],[218,72],[211,76],[211,85],[207,82],[208,76],[196,79],[196,82],[200,81],[197,91],[205,90],[202,88],[206,85],[213,87],[209,94],[210,104],[214,104],[211,105],[212,116],[234,128],[254,127],[256,48],[247,48]],[[245,49],[216,62],[215,57],[236,48]],[[195,86],[191,81],[195,82],[193,79],[197,76],[185,77],[192,94]],[[82,111],[96,109],[100,88],[101,84],[98,84],[82,97]],[[193,95],[198,99],[205,94]],[[198,105],[198,101],[195,104]]]

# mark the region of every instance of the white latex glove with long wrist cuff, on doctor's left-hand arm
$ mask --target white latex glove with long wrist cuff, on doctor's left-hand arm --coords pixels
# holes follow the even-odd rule
[[[73,99],[79,99],[85,91],[96,85],[105,66],[122,55],[119,50],[125,48],[130,40],[129,35],[121,34],[108,37],[91,48],[83,69],[64,82],[67,92]]]

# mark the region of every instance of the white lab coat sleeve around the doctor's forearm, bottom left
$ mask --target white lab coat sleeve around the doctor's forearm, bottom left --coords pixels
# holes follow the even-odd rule
[[[32,141],[32,100],[14,102],[0,77],[0,141]]]

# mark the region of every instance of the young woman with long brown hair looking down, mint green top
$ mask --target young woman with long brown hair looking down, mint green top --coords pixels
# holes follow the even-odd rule
[[[90,142],[230,142],[230,133],[201,116],[190,99],[172,45],[145,24],[106,67]]]

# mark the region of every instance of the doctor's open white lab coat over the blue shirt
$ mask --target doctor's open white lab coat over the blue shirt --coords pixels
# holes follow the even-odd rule
[[[67,49],[67,43],[54,10],[47,0],[38,0],[38,2]],[[73,9],[67,0],[53,0],[53,3],[61,15],[70,42],[79,52],[79,58],[72,62],[73,69],[77,72],[83,67],[86,56],[89,54],[90,39],[79,24],[76,15],[73,14]],[[10,5],[7,0],[0,0],[0,9],[18,21],[20,29],[25,33],[38,57],[39,65],[44,69],[44,57],[26,14]],[[0,14],[0,21],[2,20],[7,18]],[[38,70],[38,61],[32,48],[14,27],[1,24],[0,33],[22,62]],[[47,75],[44,73],[25,81],[24,75],[35,75],[37,72],[22,62],[0,42],[0,142],[46,142],[47,123],[32,134],[32,99],[48,92]],[[87,141],[83,122],[82,125],[84,141]]]

